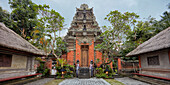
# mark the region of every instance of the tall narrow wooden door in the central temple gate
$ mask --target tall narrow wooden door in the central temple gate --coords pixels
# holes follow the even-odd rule
[[[88,67],[88,46],[84,45],[81,48],[81,66]]]

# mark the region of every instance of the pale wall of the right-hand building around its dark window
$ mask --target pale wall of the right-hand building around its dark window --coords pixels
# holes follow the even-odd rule
[[[141,74],[170,78],[169,49],[140,55]],[[147,57],[158,56],[159,65],[148,65]]]

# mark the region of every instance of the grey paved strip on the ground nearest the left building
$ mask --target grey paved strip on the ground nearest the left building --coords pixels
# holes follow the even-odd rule
[[[44,79],[33,81],[33,82],[30,82],[30,83],[27,83],[27,84],[24,84],[24,85],[44,85],[45,83],[47,83],[51,80],[54,80],[54,78],[44,78]]]

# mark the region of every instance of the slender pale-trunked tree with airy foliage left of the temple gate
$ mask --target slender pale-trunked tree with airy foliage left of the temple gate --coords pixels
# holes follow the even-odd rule
[[[56,12],[55,10],[49,10],[49,6],[48,5],[39,5],[39,13],[41,18],[39,19],[39,24],[40,27],[45,29],[46,33],[45,36],[46,41],[49,43],[50,45],[50,49],[52,51],[52,54],[56,57],[59,58],[56,53],[55,53],[55,49],[57,49],[58,44],[57,40],[61,39],[58,38],[56,32],[59,29],[62,29],[63,27],[63,23],[64,23],[64,17],[62,17],[58,12]]]

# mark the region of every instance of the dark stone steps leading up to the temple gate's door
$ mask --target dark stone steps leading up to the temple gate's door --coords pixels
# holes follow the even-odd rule
[[[78,78],[90,78],[90,71],[88,67],[80,67]]]

